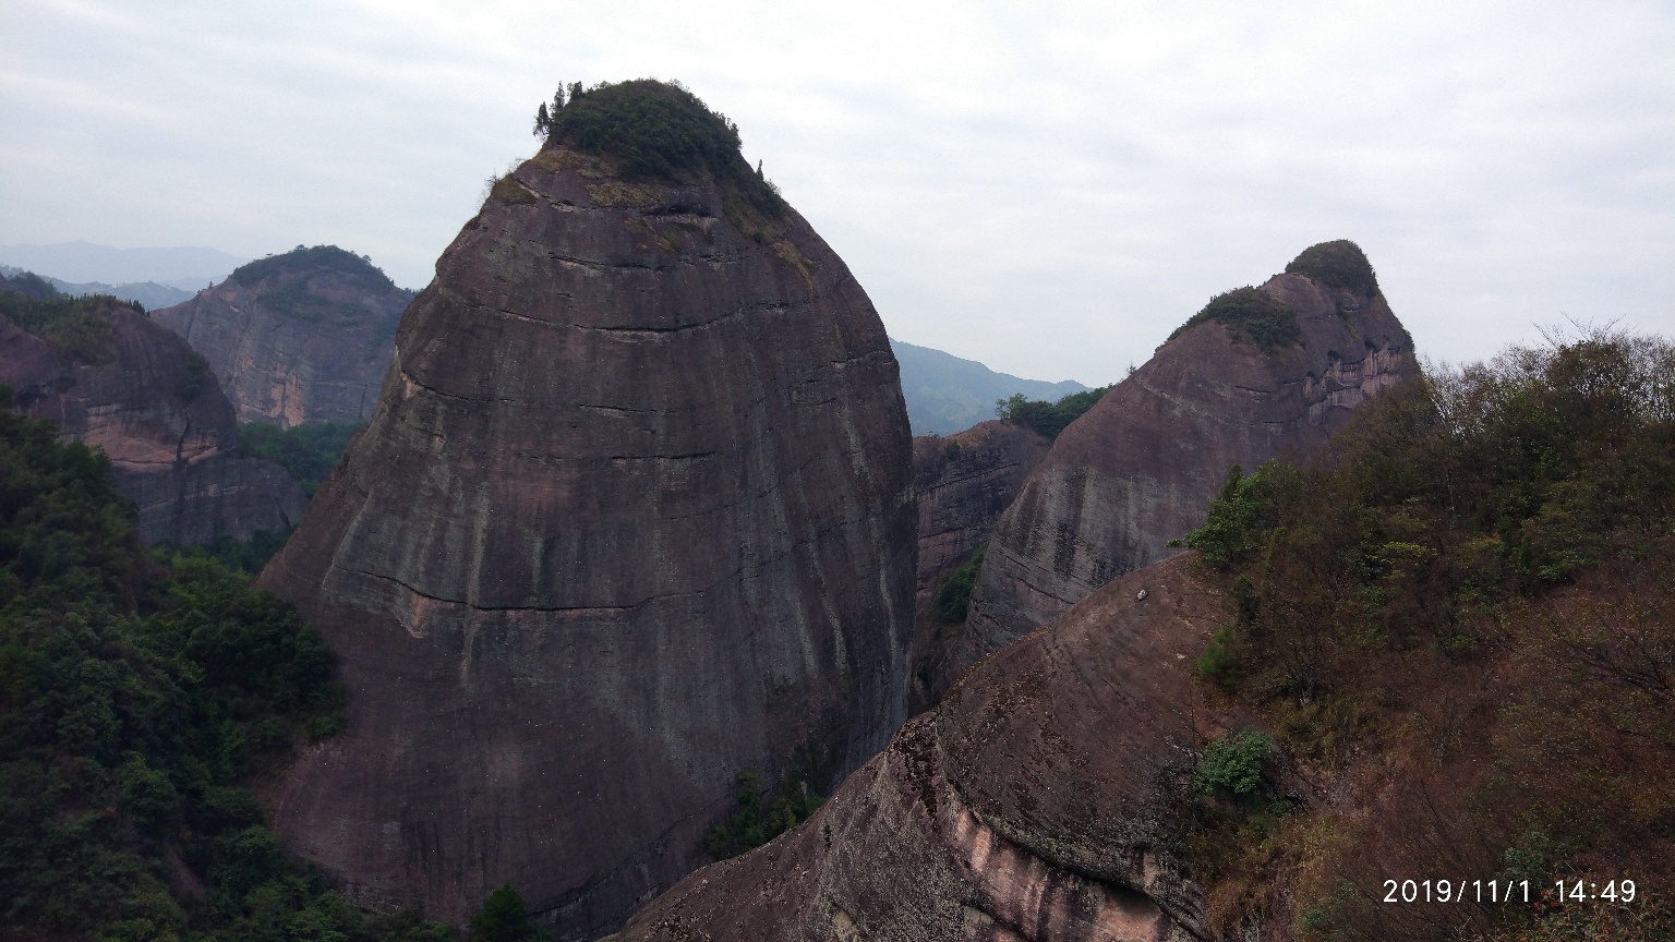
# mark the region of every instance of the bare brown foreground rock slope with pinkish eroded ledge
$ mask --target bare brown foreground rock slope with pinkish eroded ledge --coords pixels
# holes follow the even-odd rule
[[[1104,587],[975,667],[809,821],[613,939],[1204,939],[1203,892],[1164,848],[1213,731],[1193,664],[1228,617],[1188,558]]]

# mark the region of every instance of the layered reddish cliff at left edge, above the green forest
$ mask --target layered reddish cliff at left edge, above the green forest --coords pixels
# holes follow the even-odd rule
[[[0,382],[20,409],[111,456],[117,488],[139,505],[141,538],[203,545],[302,520],[302,488],[238,456],[233,406],[184,340],[109,298],[75,303],[102,322],[102,355],[62,355],[0,318]]]

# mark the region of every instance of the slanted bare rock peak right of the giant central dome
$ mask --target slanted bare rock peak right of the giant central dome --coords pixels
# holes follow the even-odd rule
[[[1234,464],[1308,456],[1367,397],[1419,374],[1358,248],[1325,243],[1291,268],[1338,248],[1362,277],[1317,268],[1229,292],[1059,436],[995,526],[945,675],[1166,556]],[[1240,305],[1263,310],[1240,325]]]

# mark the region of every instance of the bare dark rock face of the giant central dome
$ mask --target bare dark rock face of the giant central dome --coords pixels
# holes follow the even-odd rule
[[[357,900],[461,920],[511,882],[591,937],[740,771],[827,789],[901,724],[896,364],[814,230],[735,198],[558,144],[501,179],[263,572],[350,691],[276,823]]]

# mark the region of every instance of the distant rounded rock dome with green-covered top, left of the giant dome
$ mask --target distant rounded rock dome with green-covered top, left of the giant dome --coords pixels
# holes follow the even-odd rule
[[[412,292],[335,245],[251,261],[152,317],[209,360],[240,422],[363,422]]]

